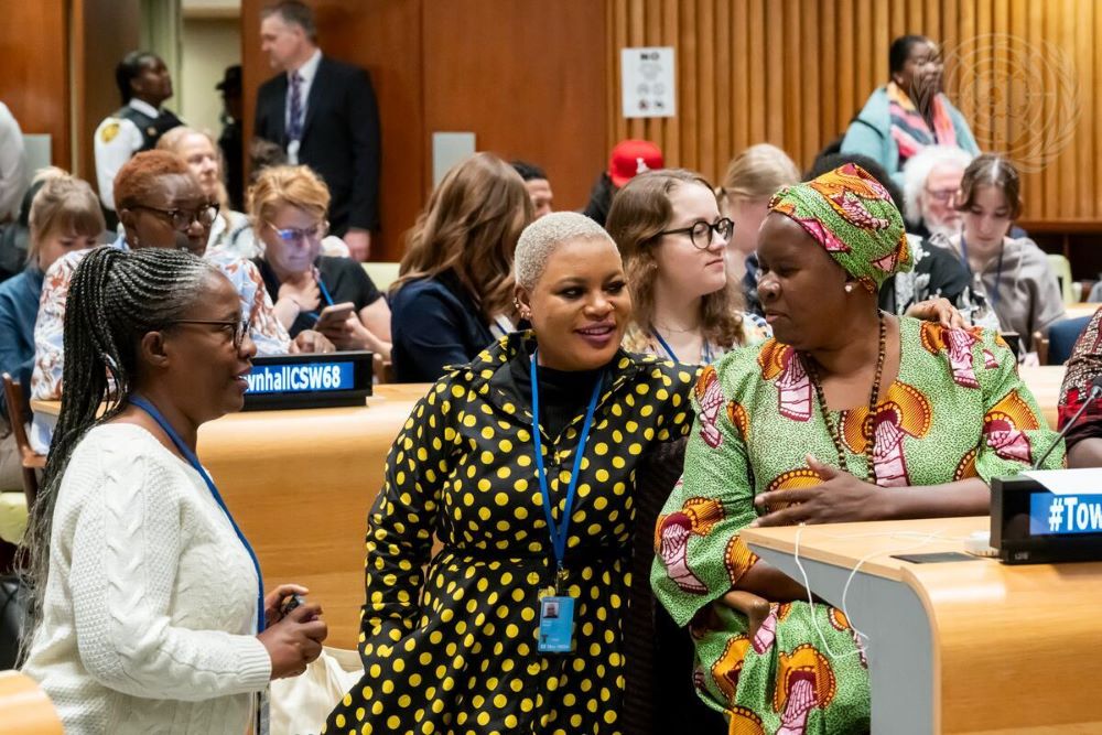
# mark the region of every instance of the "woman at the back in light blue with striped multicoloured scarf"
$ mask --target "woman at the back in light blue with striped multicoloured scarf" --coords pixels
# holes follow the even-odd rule
[[[941,89],[944,62],[936,43],[922,35],[896,39],[888,51],[888,68],[892,79],[868,97],[850,123],[843,153],[876,160],[900,186],[907,159],[927,145],[980,154],[968,121]]]

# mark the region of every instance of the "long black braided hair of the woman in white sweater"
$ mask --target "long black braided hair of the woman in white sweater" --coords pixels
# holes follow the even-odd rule
[[[42,619],[54,506],[69,457],[89,429],[129,404],[141,338],[182,318],[203,295],[203,282],[212,273],[218,270],[183,250],[105,246],[90,251],[73,274],[65,310],[62,409],[42,489],[28,519],[29,554],[20,560],[20,575],[32,592],[21,658]],[[101,403],[105,410],[97,418]]]

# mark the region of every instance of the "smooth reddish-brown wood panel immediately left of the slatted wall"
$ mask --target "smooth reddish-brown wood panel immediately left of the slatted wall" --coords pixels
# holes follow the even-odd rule
[[[603,7],[453,0],[423,19],[425,150],[433,131],[473,131],[479,150],[544,164],[557,208],[584,206],[608,155]]]

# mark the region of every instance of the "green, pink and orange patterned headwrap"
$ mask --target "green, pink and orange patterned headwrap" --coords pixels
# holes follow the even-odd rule
[[[884,281],[915,264],[903,216],[892,196],[855,163],[780,190],[769,202],[769,210],[799,223],[873,293]]]

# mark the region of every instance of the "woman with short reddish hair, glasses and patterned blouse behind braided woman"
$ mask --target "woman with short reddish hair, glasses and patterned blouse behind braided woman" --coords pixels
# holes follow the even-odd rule
[[[130,159],[115,180],[115,202],[123,234],[114,246],[120,250],[166,248],[202,256],[220,270],[237,289],[241,312],[249,321],[249,335],[261,355],[289,352],[327,352],[333,346],[316,332],[291,341],[276,318],[271,299],[257,267],[226,252],[206,252],[218,205],[203,193],[187,164],[168,151],[145,151]],[[31,397],[58,400],[64,369],[63,325],[66,295],[73,272],[87,250],[72,252],[46,273],[39,318],[34,325],[34,371]],[[48,428],[37,417],[32,442],[45,451]]]

